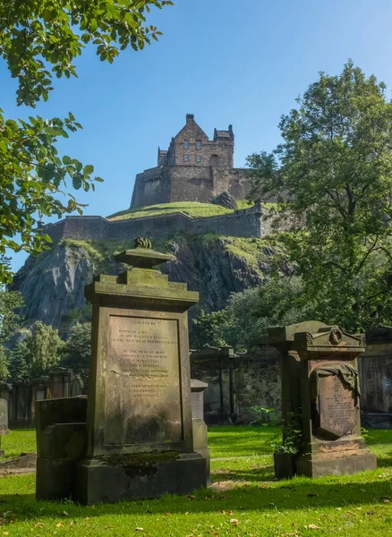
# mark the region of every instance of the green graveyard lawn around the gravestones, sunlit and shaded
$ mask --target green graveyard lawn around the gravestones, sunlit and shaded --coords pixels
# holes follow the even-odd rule
[[[81,507],[69,501],[35,502],[34,474],[0,478],[0,537],[392,534],[392,430],[367,434],[379,456],[376,472],[273,482],[268,441],[276,431],[211,428],[214,485],[189,497]],[[33,435],[13,430],[4,449],[29,451]]]

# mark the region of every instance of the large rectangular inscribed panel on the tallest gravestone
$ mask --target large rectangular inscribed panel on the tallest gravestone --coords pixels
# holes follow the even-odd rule
[[[177,320],[112,315],[105,443],[183,440]]]

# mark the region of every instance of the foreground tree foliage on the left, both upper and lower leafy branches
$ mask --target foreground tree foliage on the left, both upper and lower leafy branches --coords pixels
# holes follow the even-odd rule
[[[142,49],[158,40],[155,26],[145,25],[150,7],[159,9],[170,0],[4,0],[0,3],[0,53],[13,78],[18,79],[18,105],[35,107],[53,90],[53,76],[76,76],[74,59],[90,44],[101,61],[112,63],[119,50]],[[7,249],[36,255],[50,238],[42,234],[42,216],[62,217],[82,204],[68,193],[94,189],[94,167],[76,158],[60,158],[58,138],[81,129],[70,113],[65,119],[28,121],[6,119],[0,109],[0,255]],[[20,241],[20,243],[18,243]],[[0,262],[0,283],[11,281],[10,268]]]

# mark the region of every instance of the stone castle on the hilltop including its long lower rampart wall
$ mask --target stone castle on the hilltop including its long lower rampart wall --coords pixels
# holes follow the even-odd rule
[[[136,176],[131,208],[174,201],[209,203],[222,192],[245,200],[251,178],[245,169],[234,168],[234,132],[214,130],[213,140],[203,132],[192,114],[172,138],[169,149],[158,148],[158,166]],[[184,210],[148,217],[65,217],[45,226],[54,243],[64,239],[132,240],[141,235],[152,239],[180,234],[222,234],[260,237],[269,232],[267,209],[256,203],[249,209],[215,217],[191,217]]]

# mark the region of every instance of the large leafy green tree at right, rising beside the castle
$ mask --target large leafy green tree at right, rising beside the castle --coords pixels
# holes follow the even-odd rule
[[[283,142],[251,155],[253,199],[275,194],[285,261],[303,302],[346,328],[390,322],[392,103],[386,86],[350,61],[320,72],[282,116]],[[282,262],[282,260],[280,260]]]

